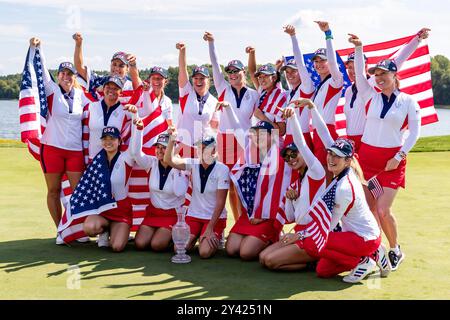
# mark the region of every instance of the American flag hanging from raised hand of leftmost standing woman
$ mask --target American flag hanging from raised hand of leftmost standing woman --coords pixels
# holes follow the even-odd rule
[[[25,59],[19,93],[20,137],[30,154],[40,161],[41,137],[47,126],[48,101],[44,89],[43,53],[30,47]],[[66,175],[61,181],[61,201],[66,205],[72,192]]]

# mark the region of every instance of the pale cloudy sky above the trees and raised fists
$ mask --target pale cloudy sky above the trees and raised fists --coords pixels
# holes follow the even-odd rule
[[[205,31],[215,36],[221,64],[240,59],[246,46],[256,49],[258,63],[291,55],[283,26],[293,24],[303,53],[325,46],[314,20],[330,23],[335,49],[350,47],[348,33],[365,44],[431,31],[432,56],[450,58],[450,1],[442,0],[0,0],[0,75],[20,73],[33,36],[42,40],[48,67],[72,61],[72,34],[84,38],[84,61],[107,70],[111,56],[137,56],[139,68],[176,66],[177,42],[184,42],[188,64],[209,63]]]

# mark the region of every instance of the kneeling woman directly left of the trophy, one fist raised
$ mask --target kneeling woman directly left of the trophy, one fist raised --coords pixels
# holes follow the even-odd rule
[[[155,156],[142,151],[144,124],[135,121],[130,141],[130,152],[137,164],[149,173],[150,204],[147,215],[136,233],[136,248],[154,251],[167,250],[172,241],[172,227],[177,222],[177,210],[185,201],[188,177],[164,161],[169,135],[160,134],[155,142]]]

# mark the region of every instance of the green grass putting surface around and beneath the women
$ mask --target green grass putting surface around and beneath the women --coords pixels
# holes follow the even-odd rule
[[[388,278],[349,285],[311,272],[275,273],[219,253],[114,254],[95,244],[61,247],[45,204],[39,163],[26,149],[0,149],[0,299],[448,299],[450,152],[408,157],[407,189],[394,204],[407,257]],[[228,229],[232,221],[228,223]],[[81,289],[71,290],[77,266]]]

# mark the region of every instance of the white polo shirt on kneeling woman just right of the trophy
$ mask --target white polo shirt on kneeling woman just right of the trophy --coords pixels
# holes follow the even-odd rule
[[[229,169],[223,163],[216,161],[209,174],[205,190],[201,192],[200,166],[198,159],[186,159],[186,171],[191,172],[192,200],[188,209],[188,216],[210,220],[216,208],[217,190],[230,188]],[[223,208],[220,219],[227,217],[226,207]]]

